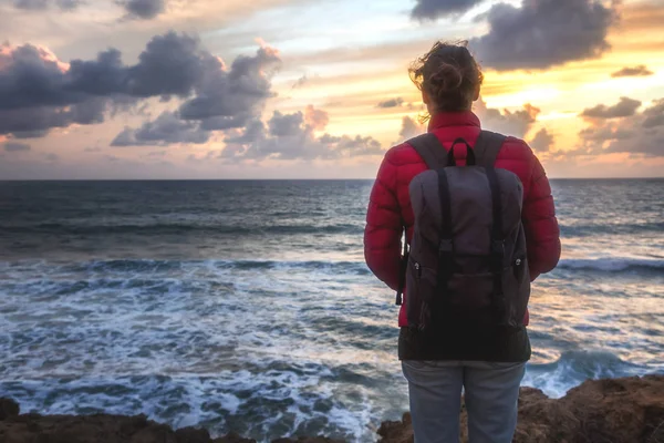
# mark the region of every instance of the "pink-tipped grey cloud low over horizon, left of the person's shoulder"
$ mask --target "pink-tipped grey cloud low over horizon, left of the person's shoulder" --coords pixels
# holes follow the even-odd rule
[[[264,124],[250,122],[242,131],[226,138],[221,153],[227,159],[333,159],[382,155],[380,142],[370,136],[323,134],[328,123],[324,111],[308,106],[305,112],[284,114],[274,111]]]

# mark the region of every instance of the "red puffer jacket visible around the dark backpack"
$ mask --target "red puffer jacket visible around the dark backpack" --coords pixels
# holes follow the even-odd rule
[[[479,119],[470,111],[436,114],[429,121],[428,132],[433,132],[446,150],[458,137],[473,146],[480,132]],[[455,150],[455,155],[457,164],[464,165],[464,150]],[[540,274],[552,270],[560,258],[560,230],[551,186],[542,165],[522,140],[508,137],[505,141],[496,158],[496,167],[511,171],[523,184],[522,219],[530,279],[535,280]],[[394,290],[400,280],[403,226],[407,227],[408,241],[413,237],[414,215],[408,185],[413,177],[426,169],[426,164],[411,145],[394,146],[385,154],[371,192],[364,257],[374,275]],[[398,326],[407,326],[405,303],[401,307]]]

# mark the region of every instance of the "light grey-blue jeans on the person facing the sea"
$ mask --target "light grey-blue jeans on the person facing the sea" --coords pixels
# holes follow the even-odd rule
[[[469,443],[510,443],[525,363],[404,360],[415,443],[458,443],[461,388]]]

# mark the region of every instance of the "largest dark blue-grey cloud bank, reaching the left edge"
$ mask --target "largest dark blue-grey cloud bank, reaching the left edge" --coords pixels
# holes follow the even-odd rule
[[[190,143],[207,131],[245,126],[273,95],[270,79],[280,64],[277,52],[260,48],[253,56],[238,56],[227,69],[199,45],[197,38],[168,32],[154,37],[134,65],[125,65],[121,52],[110,49],[95,60],[73,60],[68,66],[45,49],[4,44],[0,51],[0,134],[43,136],[53,127],[101,123],[108,112],[126,111],[142,99],[168,101],[174,95],[188,99],[177,115],[197,121],[178,128],[200,126],[199,135],[185,136]],[[127,134],[118,142],[128,143]]]

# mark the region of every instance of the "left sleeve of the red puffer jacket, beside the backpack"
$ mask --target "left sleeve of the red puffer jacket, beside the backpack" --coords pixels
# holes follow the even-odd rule
[[[398,287],[402,215],[396,197],[396,165],[390,153],[383,158],[371,190],[364,229],[364,259],[371,271],[390,288]]]

